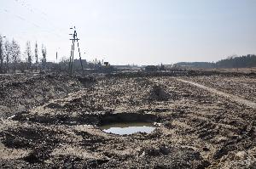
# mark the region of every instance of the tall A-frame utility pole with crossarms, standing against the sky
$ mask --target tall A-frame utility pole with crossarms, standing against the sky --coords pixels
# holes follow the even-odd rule
[[[80,48],[79,48],[78,33],[76,31],[76,27],[75,26],[73,26],[73,28],[70,28],[70,29],[73,30],[73,34],[69,34],[69,35],[72,35],[73,38],[69,39],[69,40],[72,41],[72,47],[71,47],[71,51],[70,51],[70,58],[69,58],[68,69],[69,69],[70,73],[72,74],[73,73],[73,51],[74,51],[74,48],[75,48],[75,44],[74,43],[77,42],[78,49],[79,49],[80,64],[81,64],[81,68],[82,68],[82,73],[84,74],[84,66],[83,66],[83,63],[82,63],[82,58],[81,58]]]

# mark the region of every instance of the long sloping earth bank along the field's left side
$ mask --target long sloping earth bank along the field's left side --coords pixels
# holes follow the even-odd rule
[[[47,103],[50,99],[89,87],[96,82],[90,77],[61,75],[20,75],[2,77],[0,82],[0,112],[4,119],[10,115]],[[49,107],[57,107],[49,104]]]

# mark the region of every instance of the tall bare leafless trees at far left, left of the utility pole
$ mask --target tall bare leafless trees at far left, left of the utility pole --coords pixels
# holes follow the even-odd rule
[[[35,42],[34,54],[32,54],[31,42],[26,42],[26,49],[24,52],[25,60],[21,59],[20,45],[13,39],[4,38],[0,35],[0,74],[16,72],[24,72],[25,70],[45,69],[46,66],[46,47],[42,45],[42,58],[38,58],[38,43]],[[33,62],[33,60],[35,60]]]

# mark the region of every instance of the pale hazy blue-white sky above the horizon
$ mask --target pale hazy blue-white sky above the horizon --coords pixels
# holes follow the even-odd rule
[[[256,0],[0,0],[0,34],[22,53],[26,41],[44,44],[50,61],[70,56],[76,26],[82,59],[215,62],[256,54],[255,8]]]

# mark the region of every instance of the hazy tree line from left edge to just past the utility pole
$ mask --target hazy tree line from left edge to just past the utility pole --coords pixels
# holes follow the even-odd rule
[[[33,46],[33,48],[32,48]],[[33,52],[32,52],[33,51]],[[41,54],[39,54],[41,52]],[[21,59],[23,55],[23,59]],[[39,58],[39,55],[41,57]],[[26,42],[26,48],[23,53],[20,51],[20,45],[13,39],[2,37],[0,35],[0,74],[3,73],[16,73],[25,71],[38,71],[38,70],[56,70],[56,71],[68,71],[70,59],[65,57],[61,58],[59,63],[47,62],[47,50],[42,45],[41,51],[38,48],[38,42],[33,45],[31,42]],[[57,54],[56,54],[57,59]],[[103,61],[95,60],[94,62],[87,62],[86,59],[82,59],[84,69],[97,69],[102,70]],[[108,65],[108,69],[111,66]],[[81,64],[79,59],[73,59],[73,70],[81,70]]]

